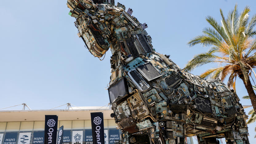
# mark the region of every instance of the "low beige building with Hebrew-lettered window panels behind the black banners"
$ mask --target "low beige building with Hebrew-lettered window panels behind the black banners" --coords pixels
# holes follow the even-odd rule
[[[113,112],[107,107],[75,107],[73,110],[0,111],[0,144],[43,144],[45,115],[58,115],[58,128],[64,126],[64,144],[92,144],[91,112],[102,112],[105,144],[119,143]]]

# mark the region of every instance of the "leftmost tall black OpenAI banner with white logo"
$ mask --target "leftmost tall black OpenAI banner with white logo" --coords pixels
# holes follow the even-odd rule
[[[45,115],[45,125],[44,125],[44,143],[45,144],[56,144],[57,127],[58,127],[58,116]]]

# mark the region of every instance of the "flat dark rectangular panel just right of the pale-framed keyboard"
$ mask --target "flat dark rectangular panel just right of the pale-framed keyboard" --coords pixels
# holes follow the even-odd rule
[[[150,62],[138,66],[137,69],[148,81],[152,81],[162,76]]]

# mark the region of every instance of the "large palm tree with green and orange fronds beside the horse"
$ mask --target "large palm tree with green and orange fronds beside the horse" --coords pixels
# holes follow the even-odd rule
[[[256,14],[249,19],[250,8],[248,6],[238,14],[237,5],[225,18],[222,10],[221,25],[211,16],[206,21],[211,25],[203,29],[203,34],[198,35],[188,42],[190,47],[201,44],[210,49],[197,54],[185,66],[190,72],[196,67],[207,63],[219,63],[218,67],[206,70],[200,76],[202,78],[220,78],[222,81],[229,75],[227,85],[235,90],[236,77],[242,79],[250,96],[251,103],[256,111],[256,95],[251,85],[249,76],[256,67]],[[254,71],[253,71],[254,72]],[[255,77],[256,74],[254,73]]]

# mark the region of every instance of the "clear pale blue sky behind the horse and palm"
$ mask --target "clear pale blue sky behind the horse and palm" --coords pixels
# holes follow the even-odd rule
[[[231,1],[153,1],[116,0],[134,10],[133,15],[153,39],[157,52],[170,54],[170,59],[184,67],[194,54],[206,50],[200,45],[190,48],[186,43],[208,27],[205,17],[218,22],[238,4],[241,12],[246,5],[250,16],[256,13],[255,0]],[[110,56],[103,61],[94,58],[84,47],[75,18],[68,15],[65,0],[2,1],[0,5],[0,108],[26,103],[31,109],[51,109],[70,102],[75,106],[104,106],[109,102],[104,88],[110,81]],[[213,64],[194,70],[201,74]],[[237,94],[243,105],[245,86],[237,80]],[[62,109],[65,107],[61,107]],[[6,109],[18,110],[22,106]],[[246,113],[251,108],[246,109]],[[248,125],[250,142],[255,141],[254,124]]]

